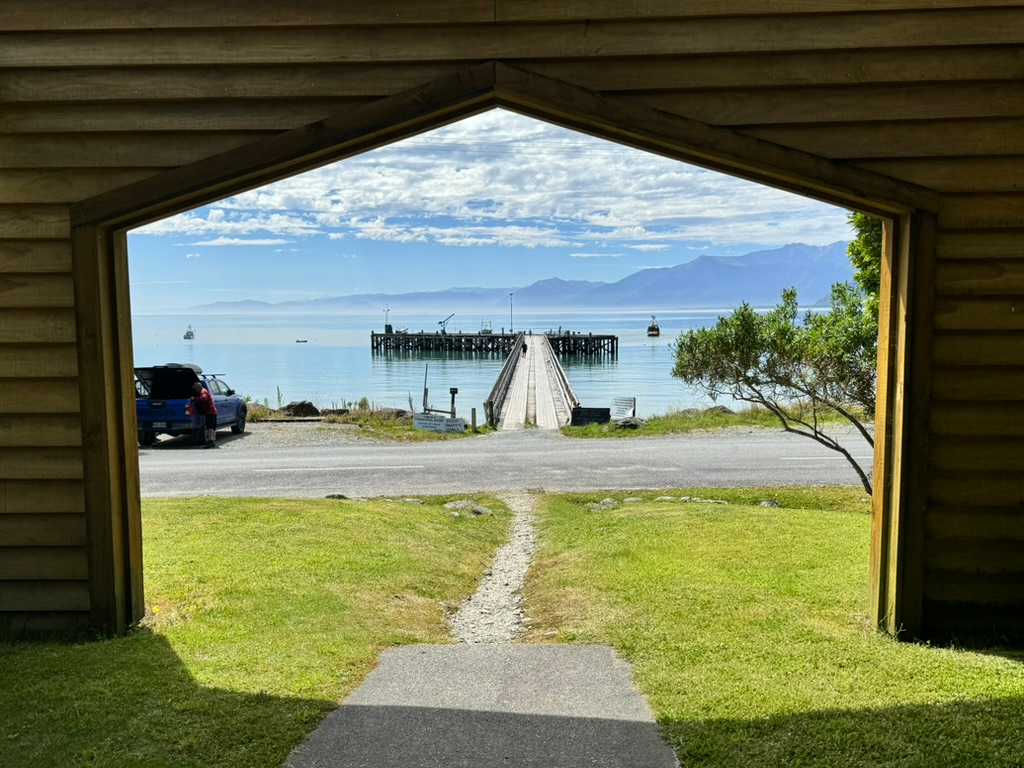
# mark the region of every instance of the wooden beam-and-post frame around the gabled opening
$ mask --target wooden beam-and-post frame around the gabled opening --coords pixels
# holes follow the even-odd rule
[[[915,212],[934,210],[928,190],[751,139],[677,116],[586,91],[501,62],[443,78],[254,145],[182,167],[77,205],[72,214],[80,335],[86,503],[95,623],[121,631],[141,611],[138,477],[128,311],[128,228],[223,199],[303,170],[364,153],[487,110],[504,108],[665,157],[720,170],[800,195],[899,219],[889,228],[884,266],[880,417],[886,435],[877,452],[877,537],[872,561],[877,620],[892,629],[914,621],[920,585],[896,590],[904,565],[896,550],[903,511],[902,401],[893,395],[913,369],[910,333],[892,307],[912,295],[907,254],[922,237]],[[927,231],[924,234],[928,237]],[[889,294],[887,299],[886,294]],[[81,300],[88,297],[88,301]],[[889,301],[892,299],[892,301]],[[886,303],[888,301],[888,303]],[[899,351],[903,350],[903,351]],[[920,352],[916,352],[920,354]],[[894,447],[895,446],[895,447]],[[912,511],[911,511],[912,512]],[[896,553],[896,554],[894,554]],[[911,568],[916,565],[911,563]]]

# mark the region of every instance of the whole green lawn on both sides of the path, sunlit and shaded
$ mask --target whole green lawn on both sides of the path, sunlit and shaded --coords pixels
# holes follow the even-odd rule
[[[862,493],[683,494],[729,503],[542,498],[526,608],[632,662],[684,766],[1024,765],[1020,654],[868,626]],[[0,765],[275,768],[382,648],[445,642],[504,542],[426,501],[147,500],[143,627],[0,639]]]

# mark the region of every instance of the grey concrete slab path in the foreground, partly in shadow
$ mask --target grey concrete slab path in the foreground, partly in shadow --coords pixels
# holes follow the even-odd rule
[[[392,648],[285,768],[677,768],[630,668],[582,645]]]

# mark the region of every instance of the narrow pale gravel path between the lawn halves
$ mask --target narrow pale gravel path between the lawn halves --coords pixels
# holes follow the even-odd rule
[[[501,499],[515,515],[512,530],[476,593],[450,622],[452,636],[459,643],[508,643],[523,632],[522,587],[537,550],[534,497],[510,493]]]

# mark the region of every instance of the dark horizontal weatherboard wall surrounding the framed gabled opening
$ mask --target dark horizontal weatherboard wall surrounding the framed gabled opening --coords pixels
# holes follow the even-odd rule
[[[79,360],[116,350],[71,206],[495,59],[940,194],[903,307],[918,512],[890,575],[916,607],[888,621],[1024,629],[1024,3],[999,0],[0,5],[0,615],[123,624],[90,596],[83,467],[131,456],[93,434]]]

